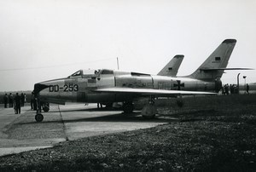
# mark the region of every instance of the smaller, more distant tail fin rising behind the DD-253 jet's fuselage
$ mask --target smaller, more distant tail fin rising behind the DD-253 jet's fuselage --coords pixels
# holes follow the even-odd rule
[[[182,54],[175,55],[157,75],[176,77],[178,68],[182,63],[183,58],[184,55]]]

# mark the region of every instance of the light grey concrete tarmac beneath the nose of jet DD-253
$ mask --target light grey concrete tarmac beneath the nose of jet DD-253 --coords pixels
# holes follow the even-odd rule
[[[121,111],[97,109],[95,104],[51,104],[49,112],[43,115],[44,121],[38,123],[30,106],[21,107],[20,114],[0,106],[0,156],[54,146],[66,140],[170,123],[170,119],[160,117],[144,119],[140,112],[125,115]]]

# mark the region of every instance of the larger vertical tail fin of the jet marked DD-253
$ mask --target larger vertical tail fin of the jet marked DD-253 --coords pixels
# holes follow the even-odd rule
[[[207,80],[222,77],[235,45],[236,39],[225,39],[189,77]]]

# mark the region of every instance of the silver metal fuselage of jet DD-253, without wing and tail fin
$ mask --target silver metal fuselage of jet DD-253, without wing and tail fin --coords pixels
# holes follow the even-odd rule
[[[152,76],[147,74],[97,74],[67,77],[43,83],[48,88],[40,91],[42,101],[64,104],[72,102],[117,102],[133,100],[136,94],[98,93],[102,88],[166,89],[188,91],[216,91],[216,83],[189,77]],[[221,85],[221,83],[220,83]],[[163,96],[163,95],[161,95]],[[170,96],[170,95],[166,95]]]

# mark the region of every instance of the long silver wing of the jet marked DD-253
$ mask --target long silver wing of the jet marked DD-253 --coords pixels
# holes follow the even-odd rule
[[[104,88],[96,89],[96,92],[105,93],[131,93],[138,95],[216,95],[211,92],[201,91],[183,91],[183,90],[166,90],[166,89],[132,89],[132,88]]]

